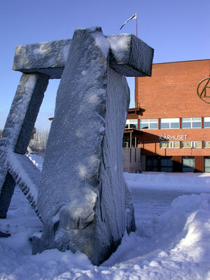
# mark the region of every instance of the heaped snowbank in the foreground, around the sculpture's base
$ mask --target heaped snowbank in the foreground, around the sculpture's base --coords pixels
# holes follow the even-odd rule
[[[210,279],[210,195],[174,200],[172,208],[123,237],[111,258],[96,267],[83,253],[57,249],[31,255],[29,231],[0,239],[1,279]]]

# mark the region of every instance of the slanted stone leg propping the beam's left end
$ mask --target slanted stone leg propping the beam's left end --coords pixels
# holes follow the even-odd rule
[[[38,115],[48,76],[22,74],[0,140],[0,217],[8,211],[15,182],[8,174],[8,153],[25,154]]]

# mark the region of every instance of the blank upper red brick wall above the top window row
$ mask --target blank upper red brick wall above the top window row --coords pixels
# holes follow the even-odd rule
[[[136,78],[135,101],[145,110],[141,118],[210,116],[210,104],[197,96],[209,72],[210,59],[153,64],[152,77]]]

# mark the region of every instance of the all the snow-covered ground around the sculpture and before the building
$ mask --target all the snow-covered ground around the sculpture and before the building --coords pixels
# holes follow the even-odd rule
[[[29,155],[39,168],[42,159]],[[210,279],[209,174],[125,174],[137,231],[99,267],[83,253],[57,249],[31,255],[41,221],[15,188],[8,218],[0,220],[0,279]]]

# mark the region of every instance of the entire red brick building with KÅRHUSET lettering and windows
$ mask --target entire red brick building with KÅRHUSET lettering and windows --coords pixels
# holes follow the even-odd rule
[[[141,169],[210,172],[210,59],[153,64],[135,80],[124,147],[141,148]]]

